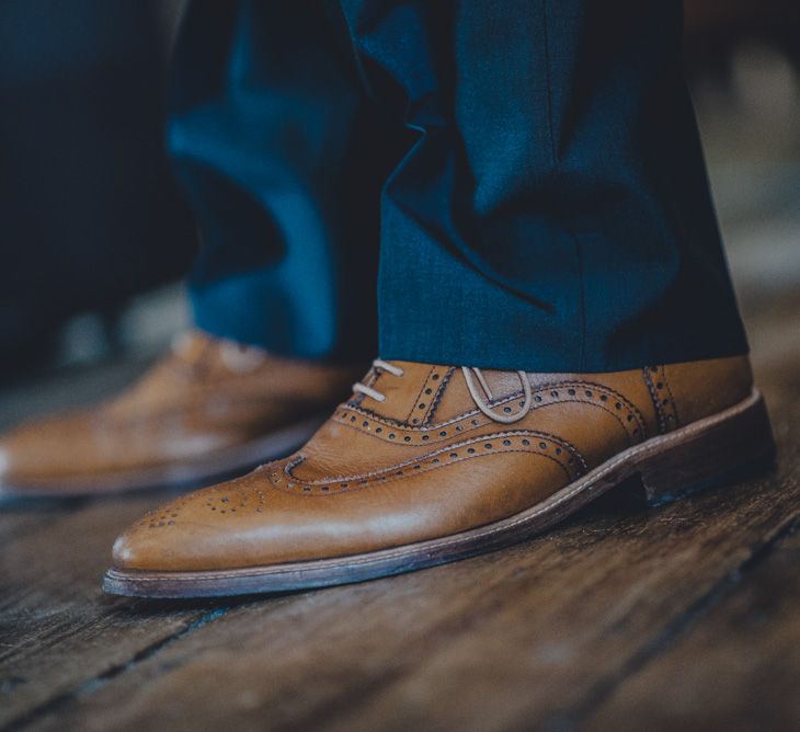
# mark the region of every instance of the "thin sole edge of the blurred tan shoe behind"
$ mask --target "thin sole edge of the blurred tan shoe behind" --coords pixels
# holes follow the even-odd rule
[[[72,499],[157,488],[198,488],[209,481],[242,474],[263,462],[285,457],[299,449],[324,422],[328,414],[271,432],[242,445],[182,462],[164,466],[59,478],[53,482],[0,482],[0,500]]]

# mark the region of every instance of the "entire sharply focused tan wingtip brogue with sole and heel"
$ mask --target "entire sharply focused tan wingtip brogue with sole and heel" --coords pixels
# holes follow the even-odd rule
[[[299,453],[135,524],[105,590],[229,595],[408,572],[519,541],[629,478],[664,500],[773,450],[745,356],[615,374],[378,361]]]

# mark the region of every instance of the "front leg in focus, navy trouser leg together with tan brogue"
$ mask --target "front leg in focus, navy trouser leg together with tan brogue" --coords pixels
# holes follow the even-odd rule
[[[773,455],[679,3],[344,4],[373,93],[420,133],[384,190],[384,359],[297,455],[130,528],[111,592],[405,572],[620,483],[659,502]]]

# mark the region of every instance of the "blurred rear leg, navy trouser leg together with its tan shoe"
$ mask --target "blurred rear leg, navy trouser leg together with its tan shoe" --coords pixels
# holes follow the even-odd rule
[[[197,0],[173,92],[169,146],[203,235],[198,329],[117,399],[2,435],[0,494],[241,472],[301,445],[374,355],[392,137],[339,4]]]

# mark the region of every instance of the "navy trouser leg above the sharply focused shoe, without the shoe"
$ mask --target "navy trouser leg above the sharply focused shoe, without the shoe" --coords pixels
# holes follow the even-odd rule
[[[381,356],[604,371],[746,352],[682,4],[343,1],[372,92],[419,133],[384,191]]]

